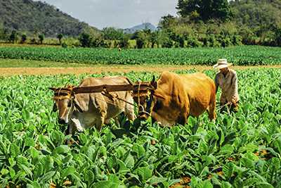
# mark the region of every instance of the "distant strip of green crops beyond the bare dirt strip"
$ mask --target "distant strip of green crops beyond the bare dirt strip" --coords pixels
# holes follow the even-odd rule
[[[38,61],[105,64],[186,64],[213,65],[218,58],[228,58],[235,65],[280,65],[281,48],[232,46],[192,49],[84,49],[56,47],[0,47],[0,58]]]

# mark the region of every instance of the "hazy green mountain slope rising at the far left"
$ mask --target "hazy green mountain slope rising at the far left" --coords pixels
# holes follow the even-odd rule
[[[27,34],[43,33],[46,37],[58,34],[77,36],[81,32],[97,32],[95,27],[80,22],[46,2],[32,0],[0,0],[0,26]]]

